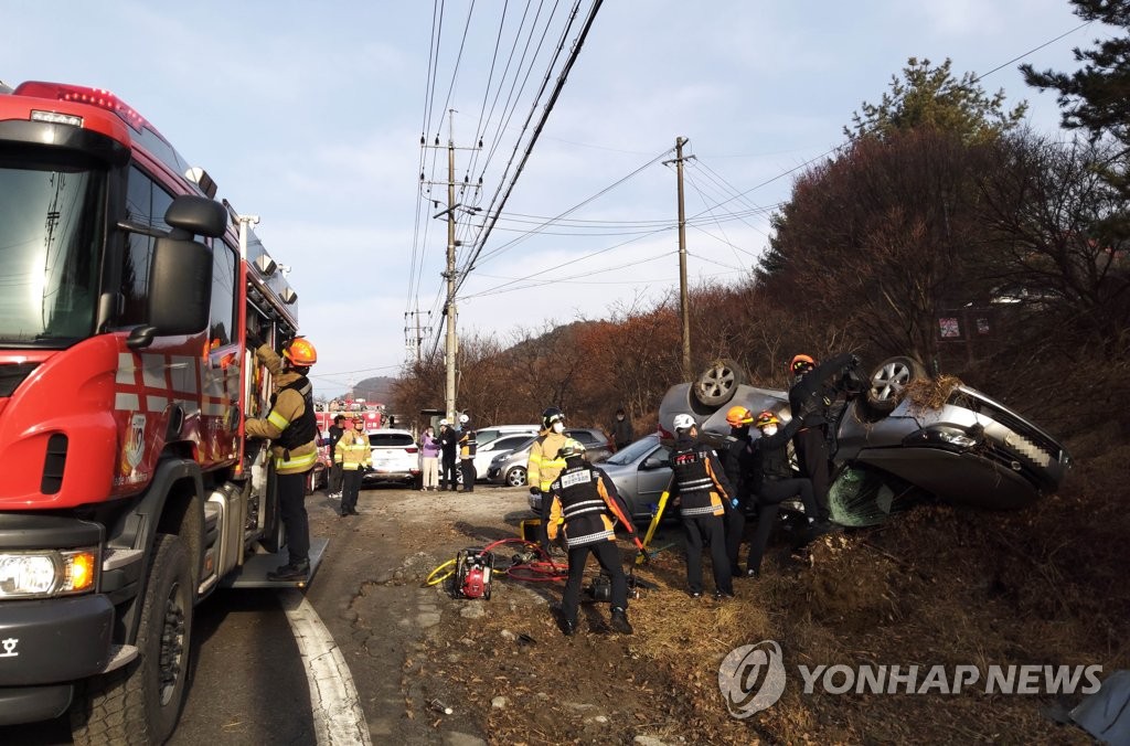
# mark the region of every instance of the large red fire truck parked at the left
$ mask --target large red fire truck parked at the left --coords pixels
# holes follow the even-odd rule
[[[215,197],[105,90],[0,93],[0,725],[164,741],[193,607],[282,564],[245,340],[279,349],[297,295]]]

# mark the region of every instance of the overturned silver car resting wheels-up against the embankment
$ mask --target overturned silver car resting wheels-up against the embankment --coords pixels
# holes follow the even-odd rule
[[[904,396],[915,387],[932,396]],[[828,497],[838,523],[881,522],[925,500],[1023,508],[1059,489],[1070,468],[1067,449],[1046,431],[956,379],[927,380],[911,358],[885,361],[867,379],[855,373],[843,388],[847,401],[828,433]],[[791,418],[786,391],[747,385],[740,370],[721,362],[668,390],[660,427],[670,431],[675,415],[689,413],[707,439],[721,440],[730,433],[725,413],[737,405]]]

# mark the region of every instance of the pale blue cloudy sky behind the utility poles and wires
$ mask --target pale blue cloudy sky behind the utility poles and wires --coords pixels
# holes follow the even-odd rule
[[[0,80],[113,92],[218,197],[260,216],[319,350],[315,388],[338,396],[398,375],[418,347],[443,349],[446,216],[433,216],[446,209],[449,139],[470,185],[457,194],[457,329],[507,344],[677,292],[677,180],[663,163],[676,138],[694,156],[688,279],[736,283],[793,176],[845,141],[909,58],[984,75],[1054,132],[1054,95],[1025,86],[1014,60],[1075,70],[1072,47],[1110,34],[1078,28],[1067,0],[608,0],[511,189],[545,111],[536,92],[547,78],[553,90],[592,0],[566,27],[571,6],[8,0]],[[424,342],[406,346],[417,320]]]

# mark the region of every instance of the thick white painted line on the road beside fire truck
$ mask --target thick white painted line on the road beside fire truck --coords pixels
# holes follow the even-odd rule
[[[371,746],[368,721],[341,649],[301,591],[279,597],[306,669],[319,746]]]

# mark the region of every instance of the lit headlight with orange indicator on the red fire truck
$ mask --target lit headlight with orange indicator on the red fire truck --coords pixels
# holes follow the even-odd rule
[[[94,549],[0,554],[0,598],[45,598],[93,590],[98,573]]]

